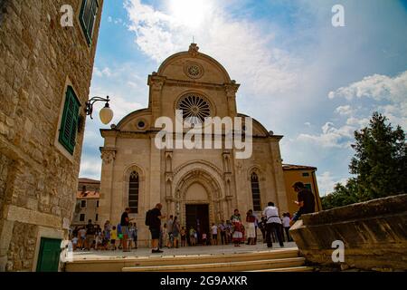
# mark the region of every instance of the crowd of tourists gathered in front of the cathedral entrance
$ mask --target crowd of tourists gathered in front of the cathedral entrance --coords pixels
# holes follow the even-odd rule
[[[243,220],[239,209],[235,209],[230,219],[222,220],[219,224],[212,224],[207,230],[197,227],[181,226],[178,217],[161,214],[162,205],[158,203],[156,208],[148,210],[146,226],[150,230],[152,253],[162,253],[164,247],[194,247],[196,245],[229,245],[241,247],[241,244],[256,245],[258,242],[258,229],[260,229],[263,243],[272,247],[272,243],[279,243],[284,247],[284,242],[292,241],[289,236],[289,227],[300,218],[301,215],[314,212],[315,201],[312,192],[305,189],[304,184],[296,182],[293,186],[298,192],[298,212],[291,215],[283,213],[279,216],[279,209],[273,202],[269,202],[260,217],[253,214],[253,210],[246,213]],[[75,227],[71,230],[71,242],[73,250],[116,250],[122,249],[129,252],[137,248],[137,224],[128,218],[130,208],[126,208],[121,215],[118,225],[111,225],[106,221],[103,228],[89,223],[86,227]]]

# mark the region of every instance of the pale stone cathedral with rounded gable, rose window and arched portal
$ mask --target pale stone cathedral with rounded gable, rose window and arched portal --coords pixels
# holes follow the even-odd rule
[[[198,49],[192,43],[188,51],[169,56],[148,76],[148,108],[101,130],[99,220],[118,224],[124,208],[131,208],[140,246],[150,239],[146,211],[158,202],[162,212],[177,216],[182,226],[208,232],[213,222],[229,219],[234,208],[243,219],[249,209],[260,215],[269,201],[280,212],[288,210],[279,151],[282,136],[254,119],[249,159],[236,159],[233,149],[157,149],[155,138],[161,128],[155,128],[156,119],[175,119],[177,109],[185,118],[189,113],[201,120],[244,116],[236,109],[240,85],[221,63]]]

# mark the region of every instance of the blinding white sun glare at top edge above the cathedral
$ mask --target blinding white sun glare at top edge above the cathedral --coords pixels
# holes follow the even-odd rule
[[[196,29],[210,13],[208,0],[170,0],[169,9],[176,23]]]

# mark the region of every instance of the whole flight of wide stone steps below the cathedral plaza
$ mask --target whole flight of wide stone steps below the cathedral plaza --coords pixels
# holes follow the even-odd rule
[[[67,272],[306,272],[297,248],[213,255],[138,256],[80,260],[66,264]]]

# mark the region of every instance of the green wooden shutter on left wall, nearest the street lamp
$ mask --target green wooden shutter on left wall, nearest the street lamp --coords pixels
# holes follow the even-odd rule
[[[60,143],[73,154],[76,145],[76,132],[78,131],[79,107],[75,92],[71,86],[68,87],[63,108],[62,122],[60,129]]]

